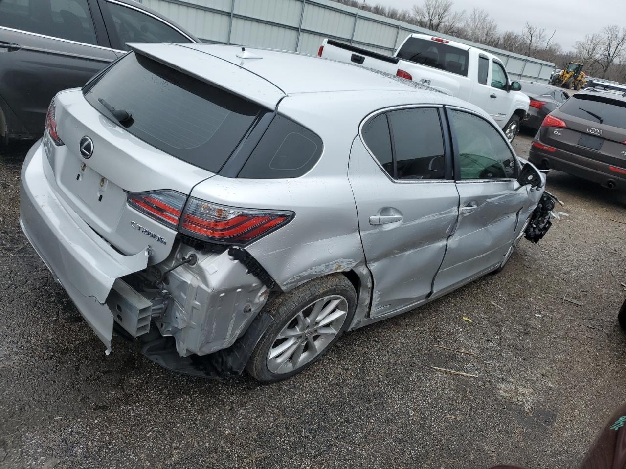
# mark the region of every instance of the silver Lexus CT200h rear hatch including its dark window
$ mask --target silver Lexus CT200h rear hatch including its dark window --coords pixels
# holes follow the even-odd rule
[[[198,63],[215,59],[195,56]],[[215,60],[234,69],[229,76],[252,75]],[[82,91],[58,94],[54,103],[64,145],[51,152],[48,179],[54,179],[59,196],[78,216],[121,253],[132,255],[150,245],[150,263],[167,257],[176,231],[128,206],[127,193],[168,189],[188,196],[220,171],[264,112],[259,103],[193,78],[180,64],[139,53],[127,54]],[[114,108],[130,118],[120,122]],[[91,148],[81,154],[85,137]]]

